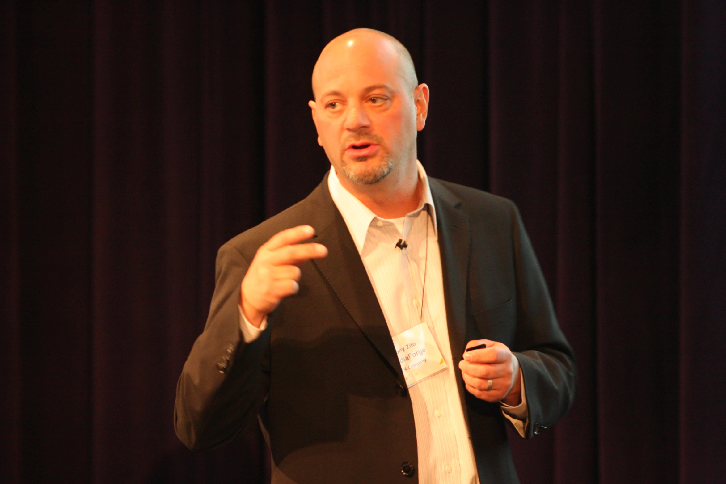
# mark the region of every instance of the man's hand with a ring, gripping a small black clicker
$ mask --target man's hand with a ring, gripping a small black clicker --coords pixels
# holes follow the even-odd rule
[[[510,406],[521,403],[519,361],[507,345],[490,340],[472,340],[466,347],[486,343],[486,348],[464,352],[459,362],[469,393],[488,402],[502,401]],[[492,380],[491,385],[489,380]],[[489,390],[487,388],[489,387]]]

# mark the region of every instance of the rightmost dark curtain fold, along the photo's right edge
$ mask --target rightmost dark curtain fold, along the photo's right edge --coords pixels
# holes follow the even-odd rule
[[[721,480],[726,429],[726,4],[682,2],[680,482]],[[717,477],[718,476],[718,477]]]

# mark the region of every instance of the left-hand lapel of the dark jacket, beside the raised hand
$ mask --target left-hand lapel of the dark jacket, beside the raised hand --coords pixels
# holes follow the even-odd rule
[[[311,194],[309,200],[317,210],[317,215],[313,218],[316,221],[313,223],[317,234],[315,242],[325,245],[328,250],[327,257],[314,259],[312,262],[330,284],[353,321],[405,387],[406,382],[401,364],[396,357],[396,350],[393,348],[386,318],[380,309],[378,298],[375,296],[348,226],[330,197],[327,176]]]

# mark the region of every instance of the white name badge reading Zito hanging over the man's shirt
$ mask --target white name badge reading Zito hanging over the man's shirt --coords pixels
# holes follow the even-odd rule
[[[417,324],[394,336],[393,346],[409,388],[446,369],[446,362],[428,324]]]

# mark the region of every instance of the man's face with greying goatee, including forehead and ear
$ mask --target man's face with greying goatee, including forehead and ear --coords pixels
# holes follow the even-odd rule
[[[311,101],[318,143],[335,171],[357,185],[375,184],[416,160],[423,128],[422,86],[401,73],[398,54],[378,38],[352,38],[329,46],[314,74]],[[423,115],[422,115],[423,112]]]

